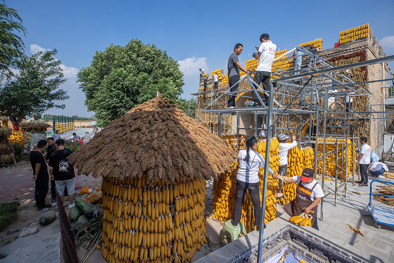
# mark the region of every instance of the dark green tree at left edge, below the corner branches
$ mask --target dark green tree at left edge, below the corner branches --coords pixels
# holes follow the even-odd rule
[[[56,53],[54,49],[23,57],[16,62],[19,73],[7,73],[8,80],[0,87],[0,113],[17,127],[26,115],[37,116],[51,108],[66,107],[55,102],[69,98],[66,91],[59,89],[67,79],[60,68],[62,62],[53,57]]]

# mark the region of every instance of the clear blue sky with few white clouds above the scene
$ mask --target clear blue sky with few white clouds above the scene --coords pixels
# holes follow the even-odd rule
[[[327,4],[326,4],[327,3]],[[27,27],[26,53],[58,50],[68,78],[62,88],[66,110],[48,113],[91,116],[76,73],[90,65],[97,50],[138,38],[177,60],[184,73],[183,98],[197,92],[198,69],[225,69],[234,44],[244,45],[244,65],[259,36],[268,33],[279,49],[323,38],[333,47],[339,32],[369,23],[387,55],[394,55],[393,0],[331,1],[126,1],[6,0]],[[109,14],[108,14],[109,13]],[[390,67],[394,72],[394,63]]]

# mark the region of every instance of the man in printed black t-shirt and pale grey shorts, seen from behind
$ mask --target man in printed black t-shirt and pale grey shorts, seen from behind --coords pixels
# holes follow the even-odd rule
[[[63,193],[67,186],[68,191],[68,207],[73,207],[74,191],[75,191],[75,173],[74,167],[68,164],[67,157],[72,153],[72,150],[65,148],[65,140],[56,140],[58,150],[51,153],[49,157],[49,173],[51,180],[55,179],[56,189],[59,194]]]

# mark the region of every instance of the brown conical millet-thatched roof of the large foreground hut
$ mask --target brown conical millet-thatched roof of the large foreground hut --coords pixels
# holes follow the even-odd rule
[[[78,174],[142,177],[147,184],[217,178],[236,152],[159,95],[112,121],[68,158]]]

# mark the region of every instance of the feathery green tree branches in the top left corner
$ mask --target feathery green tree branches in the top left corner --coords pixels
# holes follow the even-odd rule
[[[24,44],[16,32],[26,34],[22,19],[15,9],[0,3],[0,73],[15,66],[17,59],[24,56]]]

